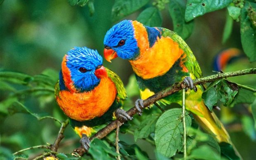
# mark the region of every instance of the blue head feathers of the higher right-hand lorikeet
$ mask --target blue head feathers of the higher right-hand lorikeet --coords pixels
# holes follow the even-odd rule
[[[125,44],[118,46],[120,40],[125,40]],[[110,28],[105,35],[104,46],[113,49],[122,59],[134,59],[139,54],[139,48],[132,21],[123,20]]]

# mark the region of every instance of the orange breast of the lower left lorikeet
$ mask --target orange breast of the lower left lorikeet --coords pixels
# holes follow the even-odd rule
[[[60,91],[57,103],[68,117],[78,121],[91,120],[107,112],[116,99],[116,93],[114,82],[103,78],[90,92]]]

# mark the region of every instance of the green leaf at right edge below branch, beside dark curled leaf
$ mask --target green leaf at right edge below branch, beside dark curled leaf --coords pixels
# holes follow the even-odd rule
[[[237,95],[235,96],[234,100],[231,103],[231,107],[235,106],[236,104],[252,104],[254,100],[256,99],[256,96],[254,95],[254,92],[239,88]]]

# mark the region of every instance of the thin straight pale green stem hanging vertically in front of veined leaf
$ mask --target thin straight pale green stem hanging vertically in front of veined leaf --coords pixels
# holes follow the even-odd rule
[[[183,148],[184,148],[184,160],[187,158],[187,131],[185,121],[185,88],[182,89],[182,121],[183,121]]]

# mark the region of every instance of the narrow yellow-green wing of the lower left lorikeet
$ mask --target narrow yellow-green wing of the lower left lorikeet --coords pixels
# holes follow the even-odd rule
[[[111,71],[109,68],[106,68],[107,74],[109,76],[109,78],[115,83],[116,85],[116,89],[117,89],[117,96],[124,100],[127,97],[126,94],[126,89],[123,86],[123,82],[121,80],[121,78],[114,73],[113,71]]]

